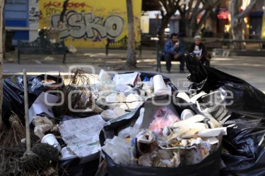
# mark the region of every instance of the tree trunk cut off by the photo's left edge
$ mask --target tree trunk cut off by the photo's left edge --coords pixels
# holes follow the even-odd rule
[[[0,130],[2,127],[2,101],[3,101],[3,82],[2,82],[2,73],[3,73],[3,40],[2,40],[2,28],[3,28],[3,7],[5,1],[0,1]]]

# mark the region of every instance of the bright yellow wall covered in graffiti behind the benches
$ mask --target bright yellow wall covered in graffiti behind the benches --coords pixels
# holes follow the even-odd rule
[[[57,28],[64,0],[39,0],[39,28]],[[142,0],[133,0],[136,41],[141,39]],[[104,48],[128,35],[126,0],[69,0],[60,38],[77,48]]]

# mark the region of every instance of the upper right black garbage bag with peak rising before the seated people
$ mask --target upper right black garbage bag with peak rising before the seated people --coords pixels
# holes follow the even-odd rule
[[[238,77],[202,65],[195,54],[188,55],[186,65],[191,73],[188,79],[194,82],[189,91],[210,93],[222,88],[225,91],[224,102],[229,104],[226,105],[229,111],[265,119],[265,94],[262,91]]]

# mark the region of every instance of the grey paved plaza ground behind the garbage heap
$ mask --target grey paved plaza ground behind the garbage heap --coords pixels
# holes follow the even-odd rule
[[[94,67],[95,73],[99,73],[103,68],[107,71],[125,72],[122,66],[126,62],[126,51],[112,50],[109,56],[105,56],[104,49],[84,49],[78,53],[67,55],[67,64],[61,64],[61,56],[54,57],[53,61],[45,61],[46,56],[43,55],[22,55],[21,64],[4,63],[4,74],[14,75],[21,74],[22,69],[26,68],[32,75],[42,73],[58,74],[58,71],[68,72],[68,67],[71,65],[91,65]],[[7,59],[16,62],[17,54],[7,53]],[[249,82],[253,86],[265,92],[265,57],[229,57],[229,58],[212,58],[211,66],[221,71],[227,72],[234,76],[240,77]],[[155,72],[156,70],[156,51],[143,51],[142,58],[138,58],[137,69],[135,71]],[[165,63],[162,62],[162,70],[165,72]],[[172,73],[162,73],[168,76],[171,81],[179,88],[185,89],[189,82],[186,77],[188,73],[180,74],[179,63],[172,62]],[[187,72],[187,71],[186,71]],[[65,73],[66,74],[66,73]]]

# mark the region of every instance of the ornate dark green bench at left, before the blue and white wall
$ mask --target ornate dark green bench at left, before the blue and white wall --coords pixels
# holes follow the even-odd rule
[[[63,55],[63,63],[65,64],[66,47],[64,42],[51,43],[43,35],[40,35],[32,42],[17,41],[17,62],[20,64],[21,54],[61,54]]]

